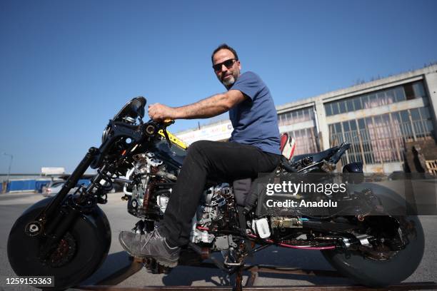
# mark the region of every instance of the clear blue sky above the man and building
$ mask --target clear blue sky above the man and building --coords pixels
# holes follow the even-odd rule
[[[72,171],[130,98],[224,91],[236,48],[276,105],[437,61],[437,1],[0,1],[0,173]],[[198,121],[177,121],[171,131]],[[207,123],[208,121],[200,121]]]

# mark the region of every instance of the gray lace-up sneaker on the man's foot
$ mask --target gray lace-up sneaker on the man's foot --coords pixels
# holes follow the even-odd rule
[[[119,241],[124,250],[134,257],[153,257],[156,262],[166,267],[178,265],[181,248],[169,247],[166,238],[162,237],[157,229],[144,235],[122,231]]]

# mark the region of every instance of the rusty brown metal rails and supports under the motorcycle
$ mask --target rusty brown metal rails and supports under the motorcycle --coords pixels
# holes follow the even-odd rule
[[[288,274],[288,275],[304,275],[304,276],[318,276],[318,277],[343,277],[340,273],[331,270],[309,270],[295,267],[277,267],[273,265],[243,265],[238,267],[234,272],[233,286],[154,286],[154,287],[118,287],[119,283],[126,280],[131,275],[139,272],[143,267],[145,260],[140,258],[130,257],[131,265],[122,267],[103,280],[96,283],[96,285],[76,286],[77,290],[107,290],[107,291],[186,291],[186,290],[233,290],[233,291],[334,291],[334,290],[353,290],[353,291],[375,291],[375,290],[437,290],[437,282],[405,282],[398,285],[391,285],[384,288],[371,288],[361,285],[294,285],[294,286],[253,286],[261,273],[274,274]],[[190,267],[207,267],[216,268],[217,266],[211,262],[179,262],[179,265],[186,265]],[[158,266],[160,267],[160,266]],[[250,276],[243,283],[243,272],[250,272]]]

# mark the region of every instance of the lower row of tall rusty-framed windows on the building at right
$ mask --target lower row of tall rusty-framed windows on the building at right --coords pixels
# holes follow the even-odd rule
[[[351,143],[351,148],[343,156],[344,163],[402,161],[406,142],[429,138],[432,131],[433,123],[428,107],[329,125],[331,146],[343,141]]]

